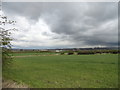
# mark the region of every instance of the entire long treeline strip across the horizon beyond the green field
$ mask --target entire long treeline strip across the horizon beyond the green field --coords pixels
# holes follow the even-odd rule
[[[61,55],[89,55],[89,54],[119,54],[120,50],[62,50],[56,52],[55,50],[47,50],[47,51],[37,51],[37,50],[19,50],[13,51],[13,53],[51,53],[51,54],[61,54]]]

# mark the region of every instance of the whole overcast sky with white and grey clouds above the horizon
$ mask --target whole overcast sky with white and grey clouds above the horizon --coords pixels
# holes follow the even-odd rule
[[[4,2],[2,9],[17,22],[13,48],[118,45],[117,2]]]

